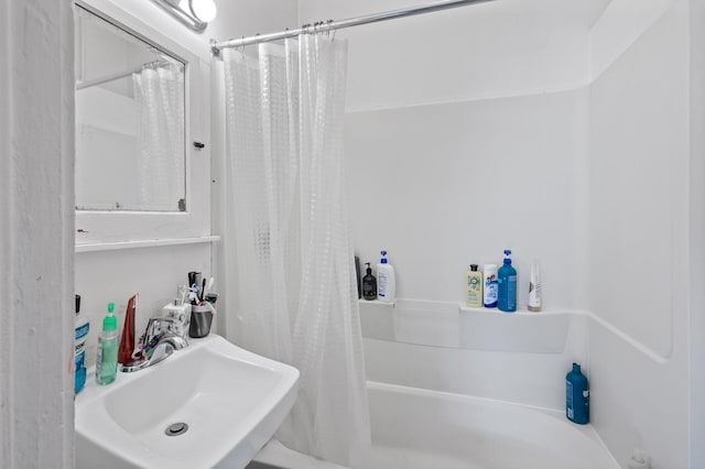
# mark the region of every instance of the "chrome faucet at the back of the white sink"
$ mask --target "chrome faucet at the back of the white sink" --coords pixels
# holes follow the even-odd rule
[[[176,334],[180,323],[171,317],[153,317],[147,324],[147,330],[140,339],[138,351],[128,363],[122,363],[120,371],[126,373],[142,370],[159,363],[172,355],[174,350],[188,347],[186,338]]]

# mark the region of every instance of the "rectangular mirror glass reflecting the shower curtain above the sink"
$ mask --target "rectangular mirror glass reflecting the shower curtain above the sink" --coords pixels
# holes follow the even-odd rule
[[[185,211],[185,63],[76,12],[76,209]]]

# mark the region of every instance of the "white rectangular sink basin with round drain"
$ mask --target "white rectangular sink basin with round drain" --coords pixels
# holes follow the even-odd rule
[[[296,399],[299,371],[210,335],[76,396],[77,468],[243,468]],[[183,425],[185,424],[185,425]]]

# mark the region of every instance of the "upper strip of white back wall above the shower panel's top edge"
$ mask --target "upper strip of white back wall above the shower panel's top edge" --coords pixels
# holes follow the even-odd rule
[[[587,84],[587,31],[609,0],[501,0],[338,31],[348,109],[503,98]],[[303,23],[403,9],[408,0],[302,0]],[[421,2],[423,3],[423,2]]]

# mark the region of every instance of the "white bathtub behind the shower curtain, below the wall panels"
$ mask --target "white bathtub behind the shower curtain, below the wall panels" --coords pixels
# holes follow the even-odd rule
[[[563,413],[368,382],[365,469],[619,469],[592,426]],[[270,441],[249,469],[341,469]]]

